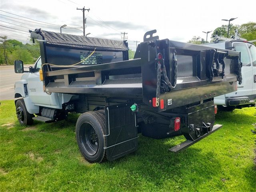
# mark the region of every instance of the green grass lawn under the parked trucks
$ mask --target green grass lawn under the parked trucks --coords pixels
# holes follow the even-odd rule
[[[113,162],[89,164],[78,149],[75,125],[20,126],[13,101],[0,105],[0,191],[255,191],[254,108],[219,112],[223,128],[174,155],[184,137],[140,136],[138,150]]]

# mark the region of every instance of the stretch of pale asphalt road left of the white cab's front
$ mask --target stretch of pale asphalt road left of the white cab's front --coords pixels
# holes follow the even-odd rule
[[[22,73],[14,73],[13,66],[0,66],[0,101],[14,99],[14,83]]]

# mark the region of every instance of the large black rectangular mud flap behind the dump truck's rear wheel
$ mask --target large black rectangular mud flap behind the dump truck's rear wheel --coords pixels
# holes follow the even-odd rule
[[[134,152],[138,147],[136,115],[131,104],[118,104],[105,107],[107,159],[112,161]]]

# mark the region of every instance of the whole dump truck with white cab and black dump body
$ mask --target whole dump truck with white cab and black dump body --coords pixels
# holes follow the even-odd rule
[[[213,98],[242,83],[240,53],[159,40],[155,32],[144,35],[128,60],[126,41],[31,31],[41,60],[15,84],[15,97],[22,97],[15,101],[20,123],[82,113],[76,140],[89,162],[134,152],[138,133],[184,135],[186,141],[170,149],[179,152],[221,128],[214,125]],[[22,61],[15,61],[15,71],[24,71]]]

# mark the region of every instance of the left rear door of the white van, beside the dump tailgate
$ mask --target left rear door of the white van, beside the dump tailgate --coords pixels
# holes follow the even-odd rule
[[[252,62],[250,58],[250,51],[246,43],[244,42],[234,42],[234,50],[241,52],[241,62],[242,62],[242,84],[238,84],[238,89],[236,92],[226,94],[226,96],[236,97],[236,96],[249,96],[252,94]]]

